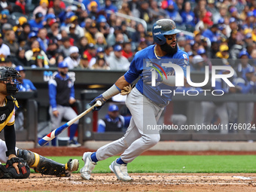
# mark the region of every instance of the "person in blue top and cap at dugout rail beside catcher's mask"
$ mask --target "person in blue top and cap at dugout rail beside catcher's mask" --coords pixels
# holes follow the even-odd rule
[[[36,92],[36,88],[32,81],[26,79],[26,72],[23,66],[17,66],[15,68],[18,72],[20,72],[20,78],[17,81],[20,82],[20,92],[23,91],[34,91]],[[15,130],[23,130],[24,129],[24,105],[26,102],[23,100],[18,101],[20,107],[15,109]]]

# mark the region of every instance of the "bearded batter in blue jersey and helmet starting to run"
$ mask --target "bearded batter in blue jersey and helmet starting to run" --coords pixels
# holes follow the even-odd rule
[[[147,125],[157,125],[160,114],[172,99],[172,94],[163,94],[161,96],[160,90],[175,90],[174,69],[162,66],[168,76],[166,75],[166,77],[162,78],[163,75],[157,75],[157,86],[154,87],[151,86],[153,73],[150,70],[150,65],[146,65],[147,62],[145,60],[158,60],[157,63],[160,65],[163,59],[169,59],[169,61],[183,69],[184,80],[186,80],[185,73],[188,65],[188,56],[177,46],[176,34],[178,32],[181,31],[176,29],[173,20],[163,19],[154,23],[153,37],[156,44],[136,53],[130,64],[130,69],[125,75],[121,76],[105,93],[90,102],[90,105],[93,105],[99,100],[104,105],[108,99],[120,93],[123,87],[132,84],[136,78],[141,77],[136,87],[126,98],[126,106],[132,114],[126,134],[121,139],[102,146],[95,153],[85,152],[83,155],[84,167],[80,171],[82,178],[90,179],[91,172],[97,161],[121,154],[120,158],[114,160],[109,168],[118,179],[130,181],[132,178],[128,175],[127,163],[132,162],[143,151],[148,150],[159,142],[160,133],[158,131],[151,133],[145,132],[145,130]],[[95,110],[99,110],[101,107],[96,107]]]

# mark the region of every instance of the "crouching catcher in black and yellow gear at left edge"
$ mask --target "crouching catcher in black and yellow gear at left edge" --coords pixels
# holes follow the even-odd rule
[[[4,130],[5,134],[5,142],[0,139],[0,178],[28,178],[29,167],[44,175],[69,176],[78,170],[78,160],[70,159],[64,165],[15,147],[15,105],[18,105],[13,96],[20,88],[19,77],[16,69],[0,66],[0,132]]]

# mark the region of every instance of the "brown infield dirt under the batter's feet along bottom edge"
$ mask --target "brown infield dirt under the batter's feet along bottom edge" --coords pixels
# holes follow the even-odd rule
[[[57,178],[33,173],[28,179],[1,180],[1,191],[256,191],[256,174],[130,174],[117,181],[114,173]]]

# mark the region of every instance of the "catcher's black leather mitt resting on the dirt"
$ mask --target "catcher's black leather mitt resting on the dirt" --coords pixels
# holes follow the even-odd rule
[[[13,166],[13,163],[18,163],[20,174],[17,173]],[[6,162],[5,174],[2,178],[28,178],[30,175],[30,169],[28,163],[23,158],[13,157]]]

